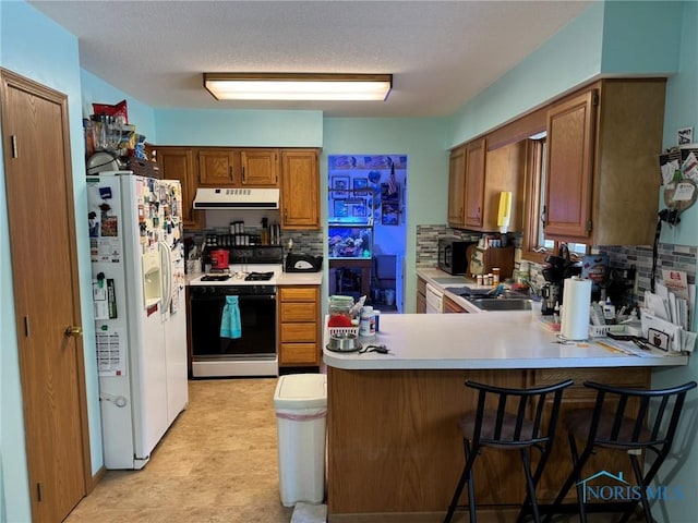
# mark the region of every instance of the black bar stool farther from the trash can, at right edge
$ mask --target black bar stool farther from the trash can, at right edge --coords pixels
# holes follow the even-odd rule
[[[669,389],[642,390],[611,387],[609,385],[586,381],[585,387],[597,391],[593,409],[579,409],[570,411],[564,416],[564,426],[569,438],[573,471],[567,476],[555,502],[552,514],[556,513],[561,503],[573,485],[577,488],[577,504],[579,507],[579,521],[587,521],[587,504],[585,502],[586,481],[581,481],[581,471],[589,457],[598,449],[611,449],[626,452],[635,481],[639,486],[639,500],[634,489],[633,499],[613,503],[603,503],[599,507],[603,512],[623,512],[619,522],[628,521],[633,512],[642,503],[645,520],[653,522],[650,504],[647,498],[647,486],[657,475],[664,459],[669,455],[678,425],[681,411],[686,399],[686,393],[696,388],[695,381]],[[629,409],[638,405],[637,414]],[[579,452],[577,441],[585,442]],[[652,452],[654,460],[646,474],[638,460],[642,451]],[[594,471],[599,472],[599,471]],[[616,500],[617,501],[617,500]]]

